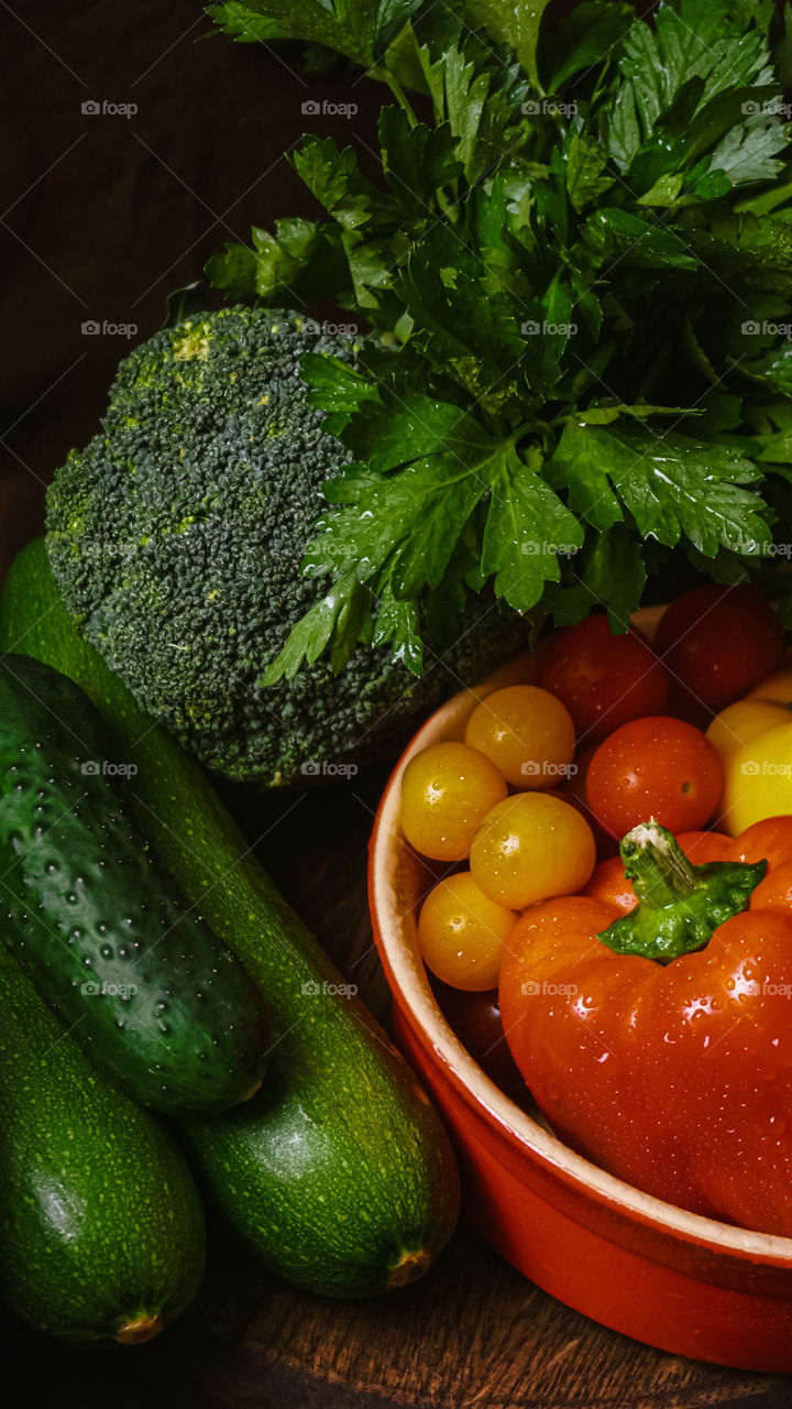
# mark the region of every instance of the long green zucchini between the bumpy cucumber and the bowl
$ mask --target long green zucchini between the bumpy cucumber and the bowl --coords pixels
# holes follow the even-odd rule
[[[75,634],[42,542],[11,569],[0,648],[48,661],[90,695],[117,757],[138,764],[152,843],[265,993],[273,1050],[262,1091],[187,1127],[216,1203],[296,1285],[349,1296],[406,1281],[440,1253],[459,1212],[454,1154],[416,1078],[365,1007],[338,995],[338,971],[248,854],[202,768]]]

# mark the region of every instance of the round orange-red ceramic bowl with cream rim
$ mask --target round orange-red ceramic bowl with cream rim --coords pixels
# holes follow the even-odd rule
[[[640,613],[652,634],[660,610]],[[457,1147],[469,1222],[559,1301],[662,1350],[744,1370],[792,1371],[792,1239],[716,1223],[650,1198],[562,1144],[509,1099],[448,1026],[420,958],[426,869],[399,827],[409,759],[464,738],[476,699],[536,678],[523,655],[448,700],[393,769],[371,840],[373,933],[393,993],[393,1034]],[[792,1198],[792,1189],[791,1195]]]

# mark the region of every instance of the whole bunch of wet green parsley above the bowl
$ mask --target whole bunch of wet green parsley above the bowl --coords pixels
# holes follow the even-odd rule
[[[624,628],[667,592],[652,575],[741,581],[785,531],[792,31],[774,52],[771,0],[585,0],[555,28],[544,8],[400,14],[371,69],[397,103],[378,178],[307,137],[293,163],[326,218],[209,262],[235,299],[334,297],[390,345],[303,358],[348,464],[303,558],[333,612],[296,623],[272,685],[369,640],[420,674],[430,603],[452,637],[485,585],[536,630],[602,606]],[[318,38],[271,0],[210,13],[238,37],[276,10]],[[321,42],[366,62],[330,11]]]

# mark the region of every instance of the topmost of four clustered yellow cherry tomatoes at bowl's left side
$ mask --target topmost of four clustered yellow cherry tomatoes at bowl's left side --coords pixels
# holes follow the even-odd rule
[[[575,755],[569,710],[536,685],[488,695],[471,714],[465,738],[497,764],[513,788],[555,788]]]

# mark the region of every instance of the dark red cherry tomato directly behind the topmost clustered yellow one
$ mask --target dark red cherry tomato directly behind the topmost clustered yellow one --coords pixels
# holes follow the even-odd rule
[[[660,714],[668,675],[643,631],[614,635],[605,616],[558,631],[547,648],[540,683],[569,710],[578,737],[599,743],[641,714]]]

